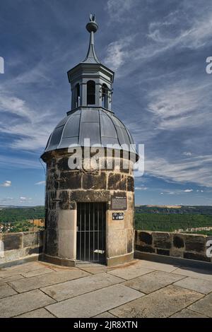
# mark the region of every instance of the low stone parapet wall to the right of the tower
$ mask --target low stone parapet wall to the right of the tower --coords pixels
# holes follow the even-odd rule
[[[206,256],[206,235],[136,230],[136,250],[164,256],[212,262]]]

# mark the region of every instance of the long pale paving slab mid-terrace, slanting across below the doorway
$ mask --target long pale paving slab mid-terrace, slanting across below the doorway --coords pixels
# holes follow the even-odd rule
[[[66,283],[59,283],[57,285],[41,288],[41,290],[55,300],[61,301],[87,292],[93,292],[93,290],[98,290],[103,287],[122,283],[122,281],[123,279],[115,277],[114,275],[100,273],[89,275],[85,278],[66,281]]]

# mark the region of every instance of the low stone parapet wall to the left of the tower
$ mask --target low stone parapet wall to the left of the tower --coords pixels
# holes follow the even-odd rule
[[[44,231],[0,234],[0,266],[42,253]],[[4,244],[4,251],[2,248]]]

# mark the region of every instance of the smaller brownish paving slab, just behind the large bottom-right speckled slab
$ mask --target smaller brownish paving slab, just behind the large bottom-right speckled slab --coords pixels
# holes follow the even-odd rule
[[[181,280],[182,278],[186,277],[174,273],[153,271],[146,275],[141,275],[141,277],[128,280],[124,285],[134,288],[134,290],[139,290],[139,292],[149,294],[171,283],[175,283],[175,281]]]

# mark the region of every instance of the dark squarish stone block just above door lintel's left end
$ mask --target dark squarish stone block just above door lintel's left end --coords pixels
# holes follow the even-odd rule
[[[81,172],[61,172],[59,180],[59,189],[81,189]]]

